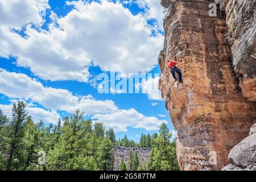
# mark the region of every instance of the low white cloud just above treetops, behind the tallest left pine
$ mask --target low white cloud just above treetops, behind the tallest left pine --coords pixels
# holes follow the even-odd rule
[[[0,104],[0,109],[3,111],[7,117],[11,118],[11,109],[13,105],[2,105]],[[39,122],[43,120],[48,123],[57,123],[60,118],[60,115],[56,111],[44,110],[39,107],[26,107],[28,115],[32,116],[34,122]]]

